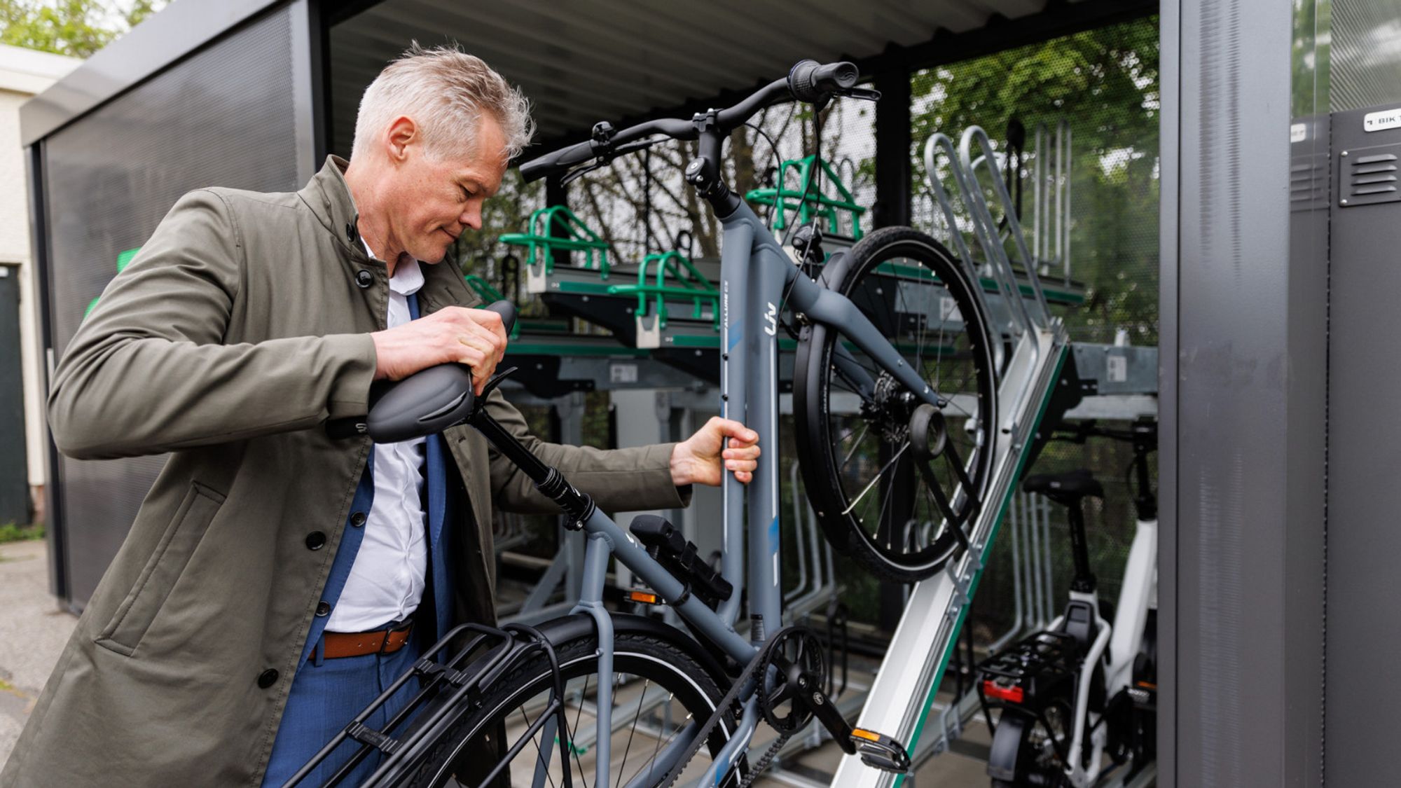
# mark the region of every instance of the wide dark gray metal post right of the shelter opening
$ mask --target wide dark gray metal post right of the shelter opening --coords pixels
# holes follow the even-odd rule
[[[1321,782],[1330,294],[1289,244],[1292,27],[1163,8],[1164,785]]]

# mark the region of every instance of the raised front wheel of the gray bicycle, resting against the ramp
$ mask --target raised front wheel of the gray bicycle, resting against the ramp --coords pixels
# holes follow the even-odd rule
[[[806,328],[793,387],[804,487],[834,547],[884,579],[922,580],[960,552],[992,474],[996,386],[982,300],[954,257],[909,227],[877,230],[831,265],[827,286],[860,308],[940,407],[916,412],[923,400],[836,330]]]

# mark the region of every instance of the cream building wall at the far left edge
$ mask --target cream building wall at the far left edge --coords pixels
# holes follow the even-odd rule
[[[24,374],[25,460],[35,519],[43,517],[46,481],[39,307],[29,264],[29,189],[27,151],[20,146],[20,105],[71,72],[81,60],[0,45],[0,265],[17,265],[20,276],[20,338]]]

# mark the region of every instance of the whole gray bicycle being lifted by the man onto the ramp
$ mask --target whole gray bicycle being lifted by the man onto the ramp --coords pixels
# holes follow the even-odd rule
[[[856,83],[850,63],[804,60],[729,109],[623,130],[598,123],[588,142],[521,165],[535,179],[593,168],[658,136],[699,142],[685,179],[724,227],[722,411],[758,432],[766,450],[748,489],[726,474],[726,550],[716,571],[664,519],[637,517],[629,533],[600,512],[492,419],[464,367],[443,365],[399,383],[359,429],[396,442],[464,422],[476,428],[586,531],[583,592],[573,614],[538,628],[468,625],[450,634],[385,693],[412,680],[422,686],[387,729],[363,725],[381,698],[318,759],[347,739],[361,742],[345,774],[378,749],[384,757],[367,785],[553,788],[580,780],[640,788],[685,777],[747,787],[815,719],[869,766],[909,767],[898,742],[853,729],[836,712],[817,637],[782,627],[779,334],[799,338],[797,444],[825,534],[881,576],[911,582],[960,554],[984,503],[998,423],[984,303],[955,258],[908,227],[877,230],[829,258],[810,237],[794,264],[722,178],[724,139],[761,108],[878,98]],[[507,321],[514,315],[504,301],[489,308]],[[670,606],[686,631],[608,610],[609,558],[650,589],[632,593],[635,602]],[[465,648],[451,648],[464,639]],[[778,736],[751,763],[759,721]]]

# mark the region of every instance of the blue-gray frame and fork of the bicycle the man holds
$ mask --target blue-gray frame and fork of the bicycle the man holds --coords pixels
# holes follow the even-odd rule
[[[759,444],[778,446],[778,320],[787,293],[787,304],[808,320],[834,327],[857,348],[871,356],[885,372],[904,383],[919,397],[940,405],[937,393],[916,374],[876,327],[845,296],[828,290],[808,279],[783,252],[768,227],[747,205],[720,217],[724,227],[720,257],[720,320],[722,320],[722,414],[738,418],[759,435]],[[842,355],[836,363],[853,376],[862,388],[874,381],[850,356]],[[863,380],[864,379],[864,380]],[[654,561],[626,533],[602,512],[583,523],[587,537],[584,578],[574,613],[590,614],[598,627],[598,698],[597,726],[611,729],[612,719],[612,621],[602,603],[604,575],[608,557],[642,578],[661,599],[703,637],[720,646],[740,665],[748,665],[758,649],[734,630],[744,582],[750,587],[751,637],[766,639],[782,621],[783,592],[779,562],[779,457],[769,450],[759,456],[759,466],[748,485],[733,474],[724,474],[724,551],[722,575],[734,586],[734,593],[717,610],[710,610],[661,564]],[[747,503],[747,506],[745,506]],[[748,578],[745,573],[744,526],[748,529]],[[679,602],[678,602],[679,600]],[[726,747],[717,754],[702,784],[713,785],[719,770],[729,770],[748,746],[758,724],[758,702],[751,688],[745,688],[744,715]],[[678,736],[653,764],[649,774],[639,775],[646,782],[660,777],[691,742]],[[595,773],[598,785],[608,782],[609,742],[600,736],[595,745]],[[548,757],[537,770],[548,768]]]

